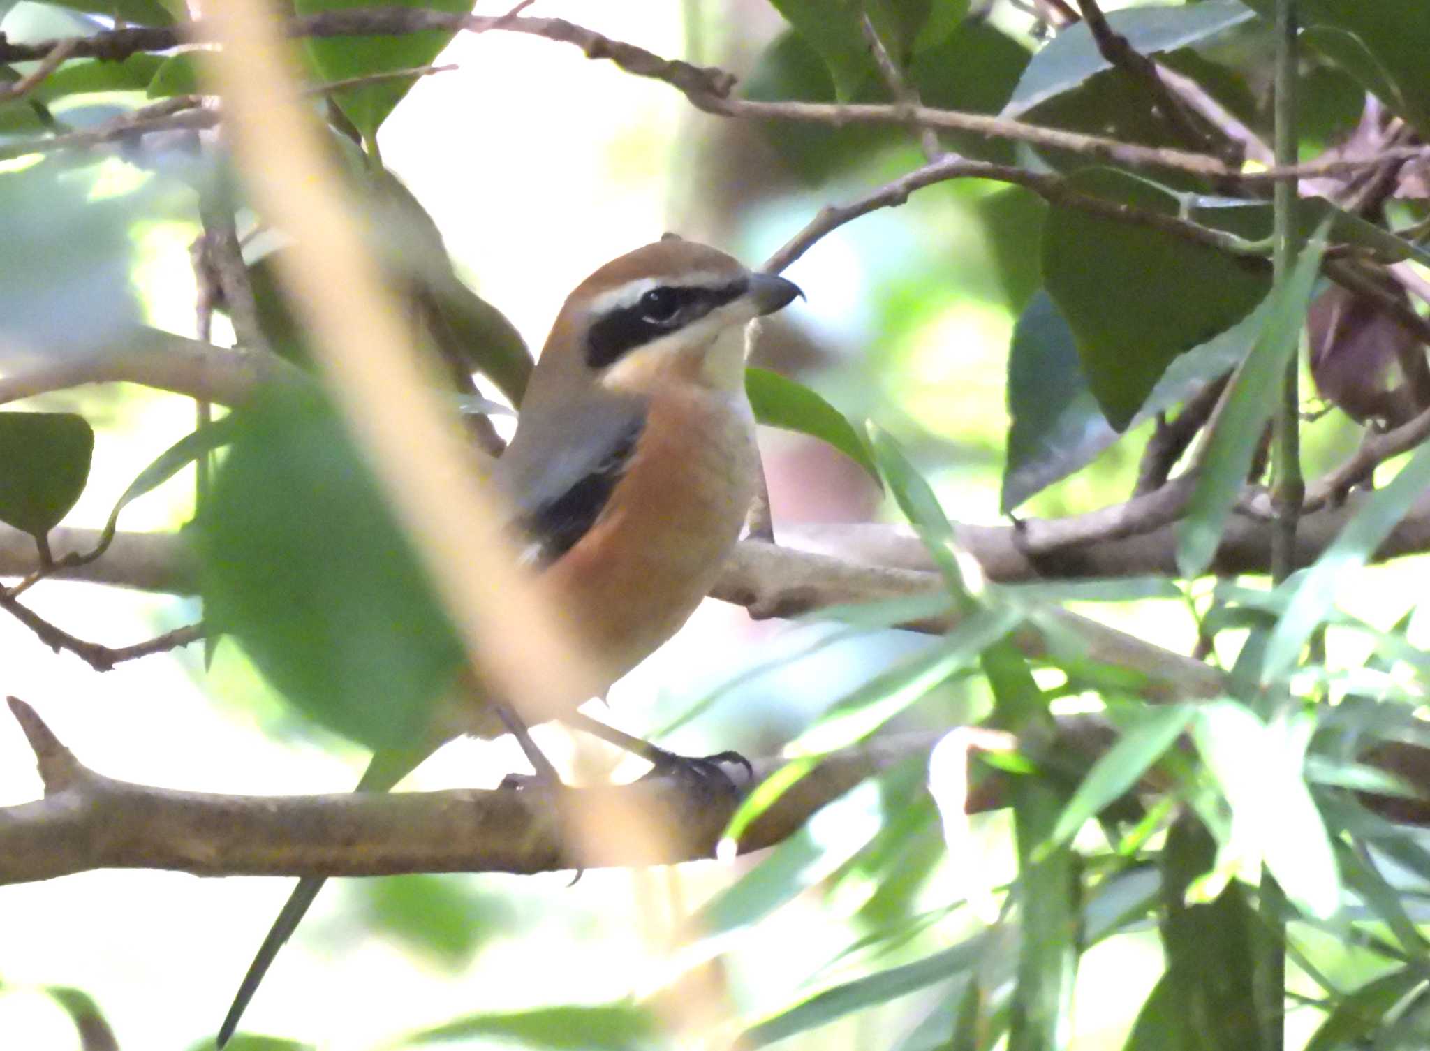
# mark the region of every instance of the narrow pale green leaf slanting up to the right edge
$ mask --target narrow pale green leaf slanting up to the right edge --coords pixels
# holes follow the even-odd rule
[[[1301,649],[1376,549],[1390,536],[1410,506],[1430,488],[1430,446],[1416,449],[1410,462],[1381,489],[1376,489],[1344,525],[1316,563],[1293,578],[1291,601],[1277,621],[1266,651],[1264,682],[1290,675]]]

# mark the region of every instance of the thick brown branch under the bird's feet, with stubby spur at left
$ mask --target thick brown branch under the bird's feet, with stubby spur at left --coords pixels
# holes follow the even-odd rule
[[[615,805],[638,808],[654,835],[631,837],[623,857],[581,858],[579,864],[665,864],[714,857],[738,802],[734,795],[698,792],[676,778],[555,795],[511,789],[277,798],[177,792],[94,774],[54,741],[29,705],[11,698],[10,706],[36,746],[46,795],[0,809],[0,884],[96,868],[194,875],[549,872],[578,865],[575,839],[562,828],[632,812],[613,811]],[[932,735],[888,738],[829,756],[749,828],[739,849],[779,842],[831,799],[925,754],[935,741]],[[779,759],[755,762],[756,784],[782,765]],[[975,798],[974,805],[991,802]],[[619,845],[622,838],[613,838]]]

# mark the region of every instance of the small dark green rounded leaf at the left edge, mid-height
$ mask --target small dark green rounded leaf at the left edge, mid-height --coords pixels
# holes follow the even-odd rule
[[[0,522],[41,538],[89,480],[94,432],[69,412],[0,412]]]

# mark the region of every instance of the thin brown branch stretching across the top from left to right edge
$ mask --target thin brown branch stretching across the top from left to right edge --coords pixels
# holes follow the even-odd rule
[[[735,76],[714,67],[662,59],[644,47],[595,33],[565,19],[531,19],[509,16],[448,14],[416,7],[369,7],[343,11],[323,11],[286,23],[290,37],[333,36],[392,36],[445,29],[482,33],[502,30],[546,37],[581,47],[589,59],[609,59],[628,73],[652,77],[682,92],[691,104],[706,113],[751,120],[795,120],[842,127],[852,123],[911,124],[921,129],[970,132],[990,139],[1008,139],[1047,149],[1062,149],[1088,157],[1111,160],[1127,167],[1151,167],[1187,172],[1208,179],[1241,183],[1307,179],[1314,176],[1354,172],[1383,164],[1397,157],[1420,157],[1424,147],[1396,147],[1380,152],[1370,160],[1327,157],[1306,164],[1243,172],[1204,153],[1155,149],[1124,143],[1103,136],[1041,127],[1005,117],[962,113],[928,106],[897,104],[825,104],[802,102],[754,102],[732,99]],[[119,29],[77,37],[73,57],[120,60],[137,51],[167,51],[183,44],[213,43],[216,27],[203,21],[186,27]],[[33,44],[0,43],[0,61],[43,59],[63,41],[44,40]]]

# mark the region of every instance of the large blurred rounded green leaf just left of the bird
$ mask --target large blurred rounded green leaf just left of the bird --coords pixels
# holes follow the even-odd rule
[[[369,748],[412,746],[465,656],[336,412],[263,390],[194,523],[204,613],[296,708]]]

